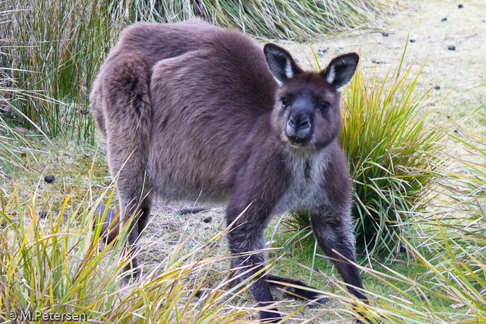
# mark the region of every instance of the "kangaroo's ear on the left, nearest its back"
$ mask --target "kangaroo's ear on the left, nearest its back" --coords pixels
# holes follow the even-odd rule
[[[299,73],[300,69],[294,62],[290,53],[285,51],[285,49],[274,44],[266,44],[263,48],[265,57],[267,58],[267,63],[274,78],[278,85],[283,85],[283,83],[296,74]]]

